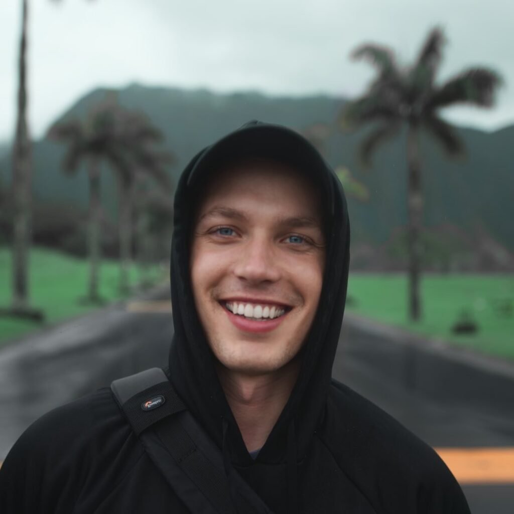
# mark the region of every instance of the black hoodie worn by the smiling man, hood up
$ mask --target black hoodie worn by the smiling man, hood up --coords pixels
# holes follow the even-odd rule
[[[326,262],[317,314],[301,350],[298,380],[255,459],[216,375],[189,272],[197,189],[206,174],[236,154],[301,167],[326,200]],[[350,225],[340,182],[316,150],[285,127],[251,122],[193,158],[180,178],[174,209],[169,377],[223,452],[229,479],[234,472],[242,475],[276,514],[468,514],[460,487],[429,446],[331,378],[346,298]],[[0,471],[0,511],[187,509],[145,454],[111,390],[102,389],[43,416],[22,435]]]

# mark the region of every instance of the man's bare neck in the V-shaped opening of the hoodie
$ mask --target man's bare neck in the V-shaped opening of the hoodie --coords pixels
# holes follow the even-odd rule
[[[264,446],[295,386],[300,362],[280,370],[248,375],[218,365],[218,376],[249,452]]]

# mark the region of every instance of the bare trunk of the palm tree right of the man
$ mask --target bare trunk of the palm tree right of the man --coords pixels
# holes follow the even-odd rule
[[[419,233],[423,217],[423,195],[421,194],[418,128],[414,123],[409,124],[407,155],[409,163],[409,317],[411,321],[418,321],[421,317],[421,300],[419,296],[421,244]]]

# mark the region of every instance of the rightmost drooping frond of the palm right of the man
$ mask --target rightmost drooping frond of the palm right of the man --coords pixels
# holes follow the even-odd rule
[[[458,103],[490,107],[502,84],[501,76],[488,68],[470,68],[437,89],[427,102],[429,111]]]

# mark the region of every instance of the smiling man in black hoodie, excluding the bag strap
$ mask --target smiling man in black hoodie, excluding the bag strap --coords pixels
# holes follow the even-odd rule
[[[225,511],[467,514],[431,448],[331,379],[349,245],[339,181],[285,127],[251,122],[181,176],[168,376],[223,462]],[[8,455],[0,510],[204,511],[144,433],[143,448],[110,389],[50,412]]]

